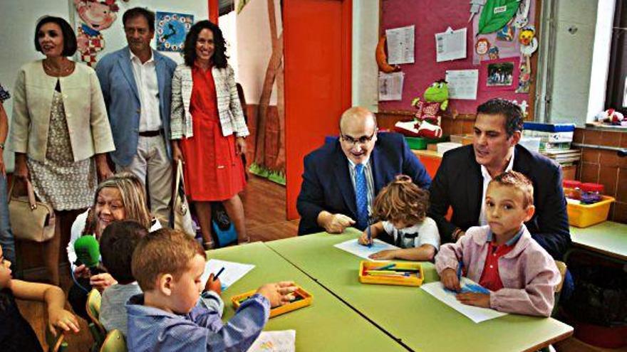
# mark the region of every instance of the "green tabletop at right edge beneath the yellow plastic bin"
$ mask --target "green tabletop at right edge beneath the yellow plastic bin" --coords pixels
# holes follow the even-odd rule
[[[571,226],[574,247],[581,247],[617,260],[627,261],[627,225],[605,221],[589,228]]]

